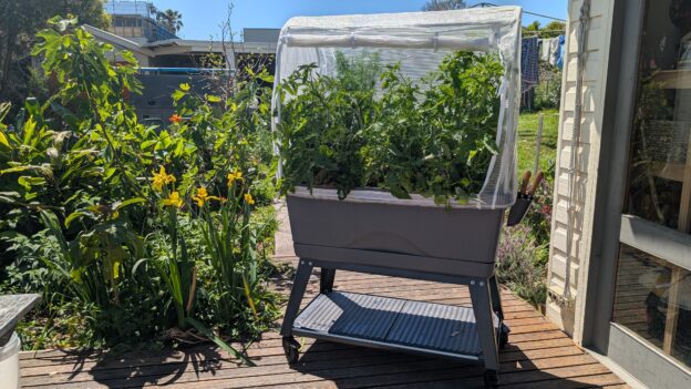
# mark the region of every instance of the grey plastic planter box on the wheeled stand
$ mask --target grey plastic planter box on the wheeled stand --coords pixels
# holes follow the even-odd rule
[[[503,208],[446,209],[422,197],[386,192],[298,188],[287,196],[296,254],[333,260],[455,276],[494,274]]]

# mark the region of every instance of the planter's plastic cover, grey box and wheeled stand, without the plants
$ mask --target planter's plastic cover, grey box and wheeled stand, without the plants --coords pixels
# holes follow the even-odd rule
[[[497,53],[504,65],[497,123],[498,153],[478,193],[477,208],[448,212],[424,199],[389,193],[296,188],[287,195],[300,258],[281,335],[288,360],[297,362],[295,336],[390,350],[475,360],[496,383],[498,350],[507,341],[494,276],[504,211],[515,203],[515,132],[520,98],[518,7],[396,14],[293,18],[281,29],[276,52],[272,108],[280,123],[281,80],[300,65],[334,75],[336,50],[373,50],[399,61],[402,52],[417,79],[434,70],[444,52]],[[422,59],[424,61],[412,61]],[[432,60],[432,61],[431,61]],[[279,164],[279,166],[281,166]],[[279,171],[279,175],[280,175]],[[324,188],[326,190],[326,188]],[[329,192],[332,192],[329,195]],[[515,211],[518,222],[524,209]],[[458,211],[463,208],[463,211]],[[320,294],[300,311],[310,275],[321,268]],[[472,307],[456,307],[332,290],[337,270],[467,285]]]

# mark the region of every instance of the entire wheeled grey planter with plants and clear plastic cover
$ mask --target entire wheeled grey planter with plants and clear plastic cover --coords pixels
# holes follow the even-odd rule
[[[520,16],[520,8],[499,7],[293,18],[282,28],[275,129],[300,257],[281,328],[290,362],[298,358],[297,335],[478,360],[486,379],[496,379],[508,328],[494,264],[504,213],[518,190]],[[344,69],[355,71],[344,76]],[[372,76],[380,70],[386,75]],[[488,88],[478,83],[485,81]],[[440,109],[450,93],[448,106]],[[409,100],[400,103],[402,96]],[[413,122],[420,123],[395,119],[392,106],[417,112]],[[398,152],[414,143],[395,139],[404,131],[420,143],[414,151]],[[468,144],[477,150],[467,151]],[[401,161],[411,153],[422,153],[411,168],[429,166],[413,176],[391,173],[399,163],[392,155]],[[440,166],[452,178],[435,176]],[[321,268],[321,294],[299,313],[313,267]],[[333,291],[337,269],[468,285],[473,308]]]

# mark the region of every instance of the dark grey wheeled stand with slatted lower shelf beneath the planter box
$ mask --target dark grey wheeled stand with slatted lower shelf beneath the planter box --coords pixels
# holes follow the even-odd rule
[[[299,253],[306,248],[301,246],[305,245],[296,244],[296,252]],[[355,256],[359,254],[377,255],[371,250],[348,249],[347,252],[348,255]],[[386,255],[386,253],[380,255]],[[300,305],[314,267],[321,268],[320,294],[300,313]],[[467,285],[473,306],[472,308],[456,307],[333,291],[337,269]],[[362,304],[353,303],[353,300]],[[334,307],[340,308],[337,309],[336,317]],[[368,309],[368,307],[374,308]],[[406,309],[408,307],[410,309]],[[443,311],[441,315],[434,315],[434,311],[440,310]],[[424,314],[430,311],[433,314]],[[372,320],[378,323],[372,323]],[[400,328],[404,324],[414,324],[415,320],[419,321],[415,330],[410,331],[414,334]],[[452,276],[320,258],[300,258],[286,308],[281,336],[283,350],[290,364],[296,364],[299,356],[300,345],[295,340],[295,336],[303,336],[355,346],[483,362],[485,383],[492,386],[498,381],[499,347],[508,341],[509,329],[503,321],[502,300],[494,274],[489,277]],[[367,325],[368,323],[370,326]],[[462,330],[457,330],[458,328]],[[446,347],[448,341],[437,341],[436,346],[432,347],[424,345],[425,338],[439,334],[439,330],[442,330],[442,337],[451,337],[445,340],[456,338],[451,341],[457,346],[455,350]],[[443,332],[444,330],[446,334]]]

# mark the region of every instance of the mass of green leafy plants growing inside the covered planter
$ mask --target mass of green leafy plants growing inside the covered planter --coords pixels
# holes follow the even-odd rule
[[[336,76],[303,65],[281,82],[282,192],[333,187],[340,197],[378,186],[402,198],[466,202],[496,154],[503,66],[493,55],[450,54],[422,90],[377,59],[338,61]]]

